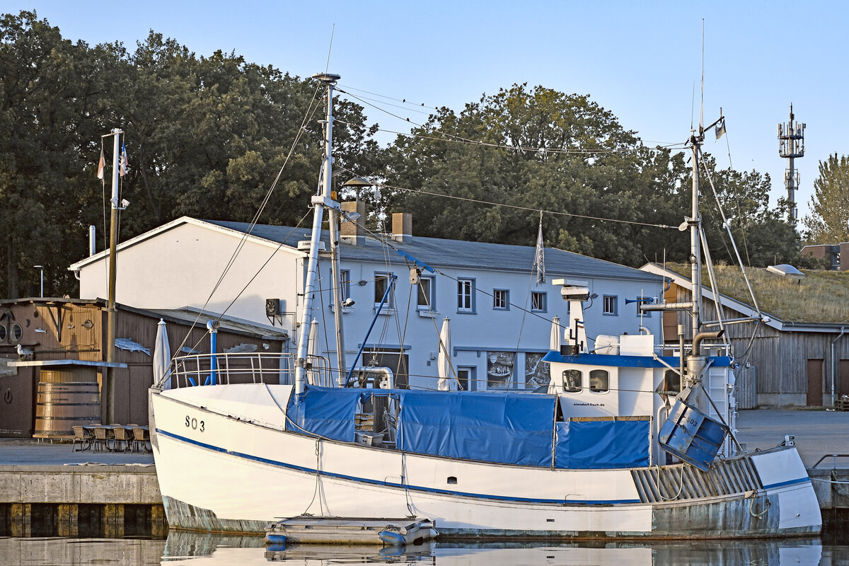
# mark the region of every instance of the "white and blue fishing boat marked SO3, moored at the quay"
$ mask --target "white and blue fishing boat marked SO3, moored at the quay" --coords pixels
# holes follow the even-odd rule
[[[314,78],[327,89],[326,156],[301,328],[324,210],[340,213],[329,192],[339,76]],[[306,332],[291,356],[177,357],[149,390],[171,529],[261,534],[294,519],[411,518],[440,540],[817,534],[817,498],[792,442],[754,453],[735,443],[734,358],[721,331],[700,328],[703,132],[690,140],[693,300],[641,305],[691,311],[690,345],[662,356],[646,331],[599,337],[590,351],[587,283],[564,279],[553,283],[569,304],[565,345],[543,358],[552,377],[537,393],[394,389],[380,368],[324,379]]]

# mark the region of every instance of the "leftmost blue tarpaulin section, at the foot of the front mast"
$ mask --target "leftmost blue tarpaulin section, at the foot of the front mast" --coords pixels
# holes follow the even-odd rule
[[[329,438],[353,442],[354,413],[362,389],[308,387],[303,395],[291,395],[286,414],[294,423],[286,428]]]

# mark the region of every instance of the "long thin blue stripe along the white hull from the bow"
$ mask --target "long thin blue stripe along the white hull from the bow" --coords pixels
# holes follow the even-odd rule
[[[252,456],[250,454],[245,454],[243,452],[236,452],[226,450],[219,446],[212,446],[211,444],[206,444],[204,442],[199,442],[198,440],[192,440],[186,438],[184,436],[180,436],[179,434],[173,434],[167,432],[166,430],[156,429],[156,434],[162,434],[163,436],[167,436],[174,440],[180,440],[181,442],[186,442],[188,444],[199,446],[200,448],[204,448],[206,450],[221,452],[222,454],[228,454],[230,456],[245,458],[245,460],[251,460],[253,462],[261,462],[264,464],[268,464],[270,466],[275,466],[277,468],[286,468],[290,470],[295,470],[297,472],[303,472],[305,474],[321,474],[323,476],[335,479],[347,479],[349,481],[355,481],[358,483],[369,484],[369,485],[381,485],[385,487],[396,487],[399,489],[405,490],[415,490],[415,491],[424,491],[428,493],[437,493],[440,495],[447,496],[460,496],[460,497],[474,497],[475,499],[488,499],[493,501],[500,502],[523,502],[523,503],[555,503],[559,505],[615,505],[615,504],[623,504],[623,503],[639,503],[638,499],[609,499],[609,500],[564,500],[564,499],[538,499],[535,497],[507,497],[507,496],[492,496],[481,493],[468,493],[464,491],[453,491],[453,490],[439,490],[431,487],[424,487],[421,485],[405,485],[399,484],[390,481],[380,481],[377,479],[368,479],[368,478],[357,478],[355,476],[350,476],[346,474],[333,474],[329,472],[320,471],[316,468],[305,468],[303,466],[296,466],[295,464],[291,464],[288,462],[280,462],[278,460],[270,460],[268,458]]]

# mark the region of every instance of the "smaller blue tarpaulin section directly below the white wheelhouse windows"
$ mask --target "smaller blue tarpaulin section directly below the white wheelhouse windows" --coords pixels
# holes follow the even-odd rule
[[[648,465],[648,419],[557,423],[555,468],[632,468]]]

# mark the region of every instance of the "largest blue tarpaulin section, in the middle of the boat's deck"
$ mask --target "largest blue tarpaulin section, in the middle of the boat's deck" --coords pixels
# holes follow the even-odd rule
[[[554,395],[405,391],[398,448],[483,462],[550,466]]]

